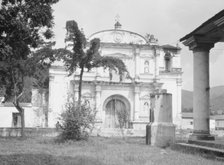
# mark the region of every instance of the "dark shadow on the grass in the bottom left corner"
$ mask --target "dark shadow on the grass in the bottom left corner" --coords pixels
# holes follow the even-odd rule
[[[99,160],[88,156],[63,157],[47,154],[0,155],[1,165],[103,165]]]

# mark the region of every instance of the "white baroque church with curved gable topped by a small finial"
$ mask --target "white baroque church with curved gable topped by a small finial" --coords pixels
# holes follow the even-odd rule
[[[116,112],[129,113],[128,129],[145,130],[150,122],[150,94],[166,90],[172,94],[172,118],[175,125],[181,120],[181,64],[180,48],[160,46],[153,35],[144,37],[122,29],[117,21],[114,28],[92,34],[88,41],[99,38],[100,54],[124,61],[130,77],[120,77],[104,68],[96,68],[83,75],[82,98],[96,109],[99,130],[118,128]],[[69,47],[68,42],[66,46]],[[48,125],[55,127],[69,94],[78,97],[79,72],[68,77],[61,62],[50,68]]]

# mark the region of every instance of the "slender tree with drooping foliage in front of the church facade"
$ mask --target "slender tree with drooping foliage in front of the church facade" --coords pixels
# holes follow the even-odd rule
[[[125,72],[128,73],[128,71],[121,59],[100,55],[100,39],[94,38],[90,43],[87,43],[85,35],[79,30],[75,21],[67,21],[66,30],[66,40],[72,42],[73,48],[72,52],[65,56],[64,61],[69,75],[73,74],[77,68],[80,69],[78,106],[81,106],[82,78],[85,68],[88,71],[98,67],[109,68],[110,70],[116,71],[120,76]]]

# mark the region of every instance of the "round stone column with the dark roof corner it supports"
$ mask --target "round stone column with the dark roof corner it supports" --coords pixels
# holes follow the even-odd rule
[[[209,129],[209,52],[217,42],[224,42],[224,10],[180,39],[193,51],[193,120],[189,140],[214,140]]]

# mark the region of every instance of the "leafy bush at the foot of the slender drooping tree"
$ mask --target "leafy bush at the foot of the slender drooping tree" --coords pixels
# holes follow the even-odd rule
[[[79,107],[73,102],[67,103],[65,109],[60,118],[59,139],[62,141],[88,139],[94,127],[95,111],[86,103]]]

